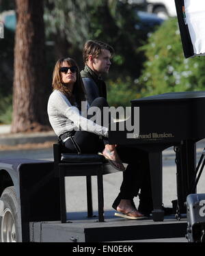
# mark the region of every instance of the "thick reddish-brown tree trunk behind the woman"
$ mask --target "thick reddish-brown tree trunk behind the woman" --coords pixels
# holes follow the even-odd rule
[[[43,0],[16,0],[13,133],[49,129],[43,12]]]

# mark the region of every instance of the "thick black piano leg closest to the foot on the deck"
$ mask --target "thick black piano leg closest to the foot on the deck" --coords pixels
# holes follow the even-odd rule
[[[154,221],[163,221],[164,211],[162,209],[162,152],[150,152],[149,162],[153,200],[152,218]]]

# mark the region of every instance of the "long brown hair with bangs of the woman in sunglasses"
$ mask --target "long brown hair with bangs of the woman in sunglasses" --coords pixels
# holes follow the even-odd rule
[[[66,84],[64,84],[64,82],[62,81],[61,73],[59,71],[64,62],[67,62],[68,66],[77,66],[77,63],[70,57],[59,59],[56,62],[53,71],[53,90],[59,90],[60,92],[63,92],[70,101],[70,103],[73,104],[74,102],[76,102],[77,106],[81,110],[81,101],[85,101],[85,88],[83,85],[83,80],[81,78],[79,67],[77,66],[77,80],[74,83],[73,90],[71,92],[69,86],[66,86]]]

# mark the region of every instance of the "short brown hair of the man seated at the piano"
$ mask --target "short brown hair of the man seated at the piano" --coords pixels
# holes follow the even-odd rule
[[[83,62],[87,62],[89,55],[97,58],[103,49],[108,50],[111,56],[114,54],[114,49],[109,44],[101,41],[88,40],[83,47]]]

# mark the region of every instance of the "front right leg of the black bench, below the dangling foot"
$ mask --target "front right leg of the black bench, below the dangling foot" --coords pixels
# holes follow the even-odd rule
[[[103,198],[103,180],[102,172],[98,172],[98,220],[104,222],[104,198]]]

